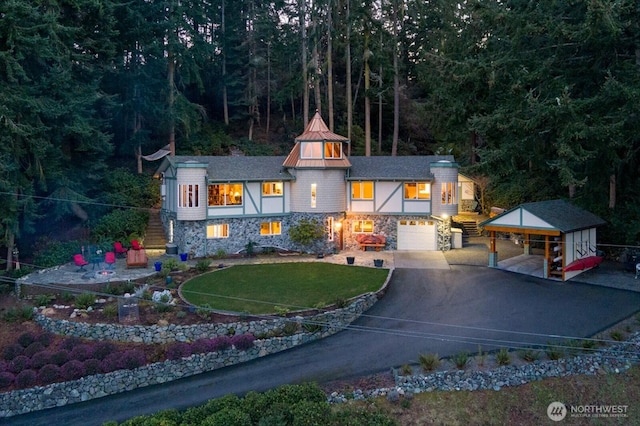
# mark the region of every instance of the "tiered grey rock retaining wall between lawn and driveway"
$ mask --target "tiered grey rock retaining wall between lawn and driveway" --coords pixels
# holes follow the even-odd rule
[[[247,351],[239,351],[234,348],[222,352],[195,354],[181,360],[149,364],[134,370],[119,370],[112,373],[87,376],[69,382],[0,393],[0,417],[10,417],[31,411],[60,407],[144,386],[166,383],[246,362],[321,339],[343,330],[357,319],[376,303],[378,296],[383,293],[385,288],[383,287],[378,293],[361,296],[343,309],[336,309],[307,318],[293,318],[293,320],[300,323],[304,321],[322,324],[322,330],[317,333],[298,333],[291,336],[256,340],[255,346]],[[77,336],[91,340],[116,340],[151,344],[213,338],[229,335],[231,329],[236,334],[268,335],[282,330],[285,322],[292,319],[277,318],[249,323],[169,325],[166,327],[155,325],[145,327],[138,325],[86,324],[68,320],[55,320],[40,313],[36,313],[35,320],[45,330],[56,334]]]

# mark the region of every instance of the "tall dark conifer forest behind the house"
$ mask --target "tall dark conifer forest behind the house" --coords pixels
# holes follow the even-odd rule
[[[287,154],[316,110],[351,155],[451,153],[484,209],[571,199],[639,245],[636,0],[3,0],[0,245],[151,207],[164,147]]]

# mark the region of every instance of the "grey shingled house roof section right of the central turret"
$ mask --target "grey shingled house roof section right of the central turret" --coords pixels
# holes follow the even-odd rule
[[[347,180],[432,181],[431,163],[454,162],[452,155],[406,157],[349,157],[351,168]]]

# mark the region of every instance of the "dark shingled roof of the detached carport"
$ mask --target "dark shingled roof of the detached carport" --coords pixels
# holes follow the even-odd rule
[[[565,200],[548,200],[521,204],[518,207],[481,223],[480,226],[491,225],[491,222],[495,219],[516,209],[528,211],[563,233],[595,228],[607,223],[595,214],[574,206]]]

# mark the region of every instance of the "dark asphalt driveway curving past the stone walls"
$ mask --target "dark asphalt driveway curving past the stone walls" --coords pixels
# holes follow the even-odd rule
[[[544,344],[552,340],[550,335],[587,337],[639,307],[640,293],[560,284],[487,267],[396,269],[386,296],[335,336],[246,364],[1,423],[100,425],[229,393],[389,371],[416,362],[421,353],[448,356],[475,352],[478,344],[491,350]]]

